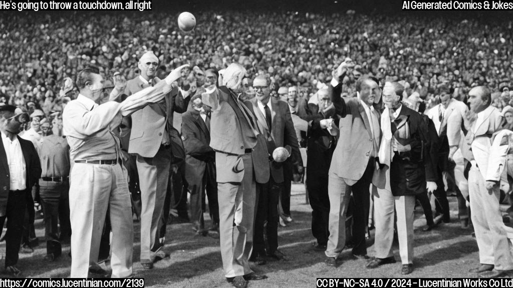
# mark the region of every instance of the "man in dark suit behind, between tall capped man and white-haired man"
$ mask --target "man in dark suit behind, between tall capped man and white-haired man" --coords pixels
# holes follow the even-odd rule
[[[185,147],[185,178],[190,198],[190,219],[196,235],[205,236],[219,230],[218,187],[215,181],[215,152],[210,143],[210,115],[201,100],[201,93],[191,98],[191,104],[182,117],[182,140]],[[212,226],[205,230],[205,189]]]

